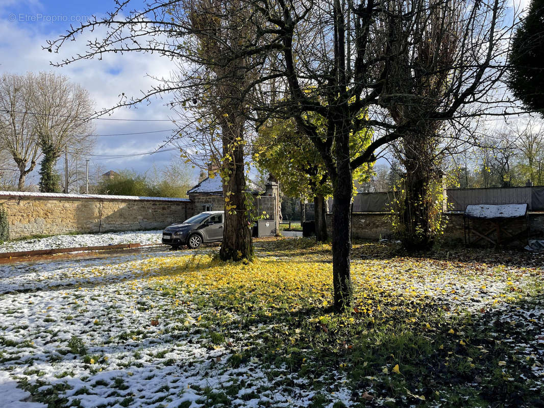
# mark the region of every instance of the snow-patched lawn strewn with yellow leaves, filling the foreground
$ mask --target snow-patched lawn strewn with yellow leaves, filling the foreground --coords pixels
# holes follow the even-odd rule
[[[29,408],[544,406],[542,255],[356,244],[338,316],[329,245],[256,250],[1,267],[0,382]]]

